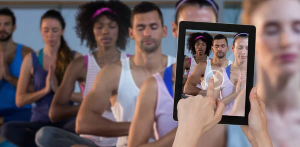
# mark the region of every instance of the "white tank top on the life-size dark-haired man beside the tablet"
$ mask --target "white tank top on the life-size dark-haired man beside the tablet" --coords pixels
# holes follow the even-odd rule
[[[168,56],[167,58],[167,67],[176,62],[176,58],[174,57]],[[131,122],[139,88],[133,80],[130,71],[129,58],[126,58],[121,62],[122,69],[117,90],[117,99],[115,104],[111,107],[111,110],[116,122]],[[153,141],[155,141],[154,134],[151,135],[149,142]],[[128,136],[118,137],[116,147],[127,147],[127,142]]]

